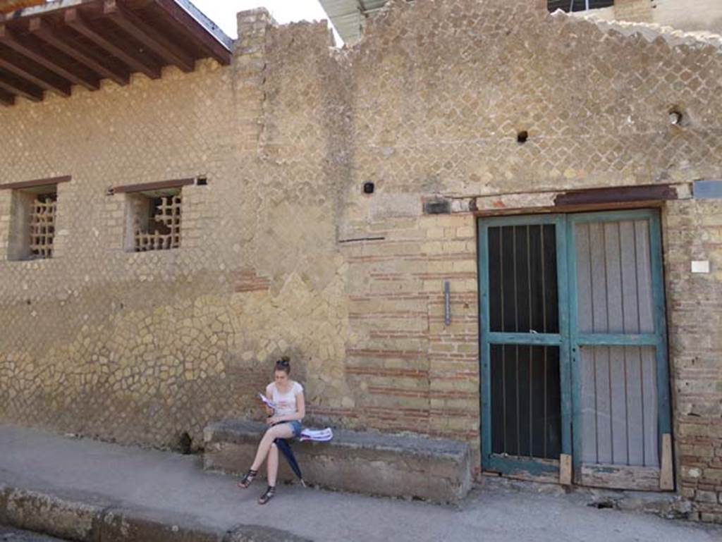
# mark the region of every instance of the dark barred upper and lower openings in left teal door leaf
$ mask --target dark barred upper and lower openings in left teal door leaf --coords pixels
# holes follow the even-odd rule
[[[559,333],[554,224],[490,227],[490,330]],[[559,348],[491,346],[492,452],[558,459]]]

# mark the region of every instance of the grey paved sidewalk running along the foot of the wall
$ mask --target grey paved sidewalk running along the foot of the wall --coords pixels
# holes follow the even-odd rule
[[[266,506],[263,481],[201,470],[199,457],[0,426],[0,483],[83,491],[136,509],[173,512],[227,529],[253,524],[317,542],[719,542],[722,529],[588,506],[588,495],[478,488],[458,507],[279,487]],[[378,481],[383,484],[383,480]],[[488,485],[488,484],[487,484]],[[12,538],[10,540],[13,540]],[[24,540],[20,538],[19,540]]]

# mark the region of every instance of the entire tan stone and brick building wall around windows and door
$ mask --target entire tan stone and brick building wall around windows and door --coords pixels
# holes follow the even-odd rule
[[[239,23],[228,68],[0,110],[0,183],[73,176],[53,258],[0,263],[2,419],[197,440],[260,414],[290,354],[310,421],[468,440],[478,465],[475,209],[670,183],[686,194],[662,209],[677,479],[722,517],[720,208],[688,187],[722,175],[720,45],[536,1],[393,1],[342,51],[324,25]],[[107,188],[196,175],[181,248],[126,252],[126,196]],[[425,213],[436,199],[448,213]],[[10,214],[0,191],[0,250]]]

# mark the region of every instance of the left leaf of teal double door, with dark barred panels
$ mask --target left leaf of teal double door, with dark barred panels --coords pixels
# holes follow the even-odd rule
[[[479,221],[482,465],[559,477],[570,454],[563,215]]]

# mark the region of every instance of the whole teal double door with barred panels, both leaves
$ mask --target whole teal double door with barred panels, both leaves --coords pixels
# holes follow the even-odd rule
[[[656,211],[479,220],[482,466],[659,489],[670,433]]]

